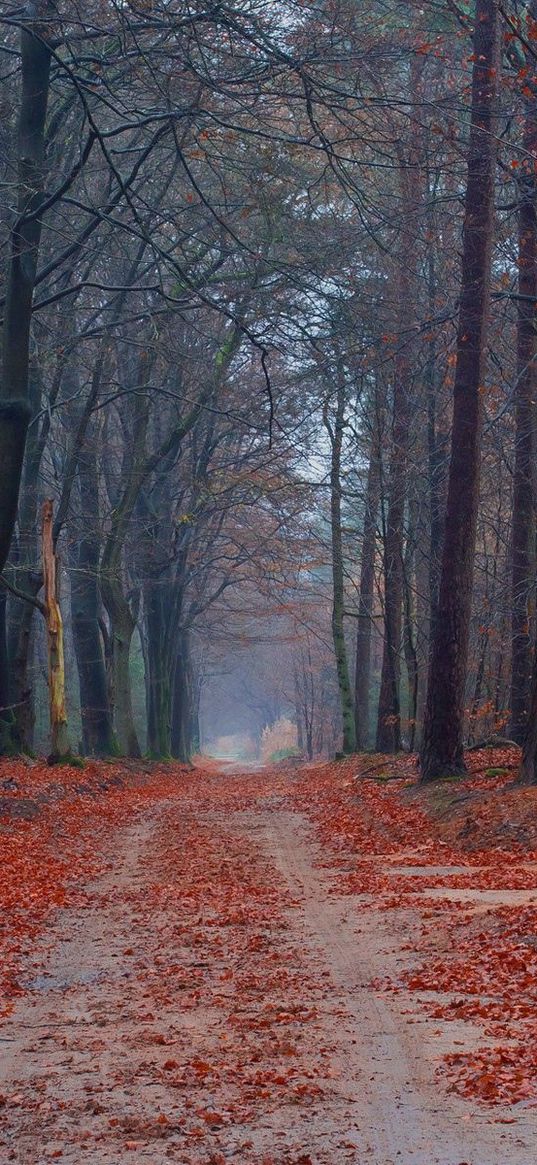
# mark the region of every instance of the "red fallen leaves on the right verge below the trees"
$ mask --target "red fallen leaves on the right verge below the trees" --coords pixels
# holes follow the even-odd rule
[[[317,765],[301,774],[294,798],[316,822],[338,888],[367,896],[360,909],[419,911],[421,963],[376,989],[431,993],[436,1018],[481,1024],[495,1044],[445,1055],[450,1087],[516,1103],[537,1097],[537,790],[510,786],[516,749],[468,761],[468,778],[432,790],[409,788],[417,772],[407,757],[389,762],[388,776],[401,774],[389,783],[360,779],[369,758]],[[502,903],[510,891],[520,899]]]

